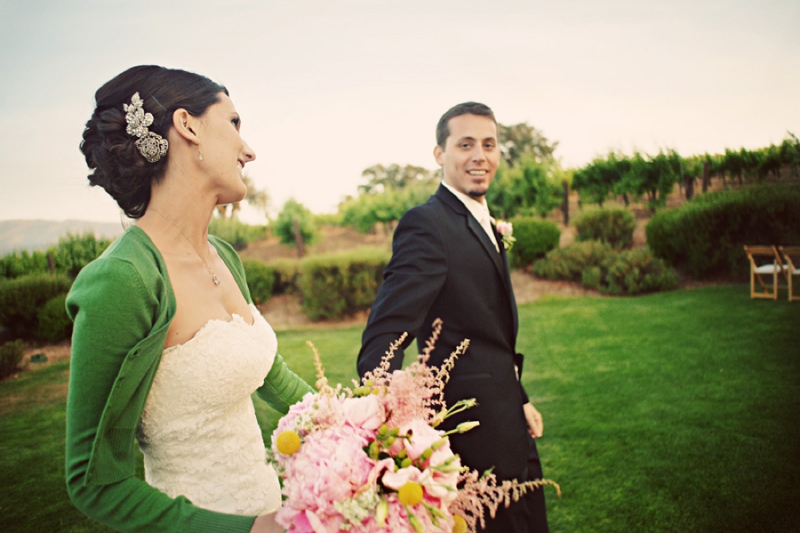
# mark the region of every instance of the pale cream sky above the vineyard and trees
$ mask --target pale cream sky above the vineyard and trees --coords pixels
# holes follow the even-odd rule
[[[800,135],[798,28],[797,0],[0,0],[0,220],[119,220],[78,143],[138,64],[227,86],[273,213],[334,212],[371,165],[435,168],[436,121],[467,100],[565,166],[780,143]]]

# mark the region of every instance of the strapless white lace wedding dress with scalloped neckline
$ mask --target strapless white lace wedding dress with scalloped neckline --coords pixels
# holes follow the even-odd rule
[[[272,367],[278,342],[251,306],[211,320],[184,344],[164,350],[139,427],[147,483],[213,511],[260,515],[281,503],[266,463],[250,395]]]

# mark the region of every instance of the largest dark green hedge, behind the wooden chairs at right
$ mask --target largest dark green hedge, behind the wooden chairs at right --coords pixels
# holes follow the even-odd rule
[[[656,214],[647,244],[668,264],[697,278],[749,272],[746,244],[800,244],[800,186],[758,185],[696,196]]]

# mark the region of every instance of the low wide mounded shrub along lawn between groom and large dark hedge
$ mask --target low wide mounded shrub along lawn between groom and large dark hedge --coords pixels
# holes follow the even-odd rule
[[[539,277],[580,281],[606,294],[634,295],[670,290],[678,275],[650,250],[614,250],[598,241],[578,242],[553,250],[533,265]]]

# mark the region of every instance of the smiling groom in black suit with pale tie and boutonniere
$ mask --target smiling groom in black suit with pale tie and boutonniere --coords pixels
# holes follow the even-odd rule
[[[450,373],[447,405],[467,398],[478,402],[441,428],[480,422],[451,436],[453,451],[479,472],[493,468],[500,480],[540,479],[533,437],[542,434],[542,417],[519,382],[517,305],[502,237],[484,198],[501,157],[497,121],[483,104],[459,104],[439,119],[436,142],[433,154],[442,167],[442,184],[426,203],[409,210],[395,230],[392,259],[362,337],[358,372],[363,376],[377,367],[403,332],[409,333],[407,344],[416,337],[424,346],[431,324],[441,318],[443,329],[430,364],[440,365],[463,339],[470,339]],[[392,368],[401,364],[402,352]],[[508,509],[501,505],[484,531],[547,532],[541,489]]]

